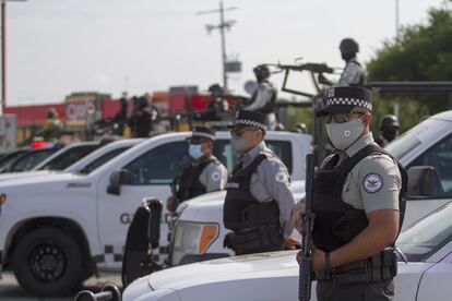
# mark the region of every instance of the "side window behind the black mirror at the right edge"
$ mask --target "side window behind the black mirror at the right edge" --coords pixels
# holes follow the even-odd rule
[[[452,135],[447,136],[417,157],[409,165],[409,167],[412,166],[435,167],[444,191],[442,197],[452,197]]]

